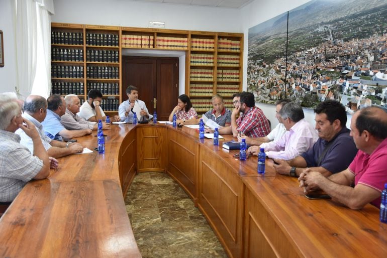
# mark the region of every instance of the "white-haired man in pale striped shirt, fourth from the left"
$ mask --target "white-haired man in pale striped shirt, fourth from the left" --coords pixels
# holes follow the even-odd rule
[[[91,129],[93,131],[98,129],[98,123],[90,122],[82,117],[79,117],[76,113],[79,112],[80,100],[77,95],[69,94],[64,97],[66,102],[66,113],[60,117],[60,123],[67,130],[83,130]],[[110,124],[103,122],[103,130],[110,130]]]

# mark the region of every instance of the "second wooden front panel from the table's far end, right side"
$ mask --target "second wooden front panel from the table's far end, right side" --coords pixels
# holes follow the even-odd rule
[[[196,203],[198,199],[199,146],[192,138],[168,131],[168,174]]]

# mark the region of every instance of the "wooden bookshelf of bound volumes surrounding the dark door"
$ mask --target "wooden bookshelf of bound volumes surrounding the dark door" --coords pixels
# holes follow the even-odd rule
[[[86,100],[87,90],[96,83],[101,89],[108,85],[114,85],[110,94],[102,90],[104,99],[117,99],[122,102],[122,51],[125,49],[169,50],[185,52],[185,94],[193,101],[198,113],[203,113],[212,107],[211,97],[219,93],[225,98],[227,107],[232,108],[232,94],[242,90],[243,71],[243,34],[186,30],[166,30],[156,28],[134,28],[104,25],[81,25],[52,23],[52,32],[59,33],[59,37],[67,33],[79,33],[79,41],[54,40],[52,37],[52,65],[53,66],[82,66],[82,78],[55,78],[52,83],[59,83],[59,94],[65,94],[66,88],[60,83],[82,83],[82,94],[77,95]],[[72,34],[72,35],[73,35]],[[53,34],[54,35],[54,34]],[[108,35],[108,37],[106,36]],[[110,37],[114,37],[115,43],[108,43]],[[90,39],[92,38],[92,39]],[[113,38],[111,38],[113,39]],[[72,43],[72,44],[70,44]],[[65,51],[66,49],[66,51]],[[82,52],[82,58],[65,59],[64,53]],[[59,57],[58,54],[59,53]],[[118,54],[118,58],[117,58]],[[80,55],[80,54],[78,54]],[[96,57],[97,56],[97,57]],[[106,58],[108,56],[108,58]],[[114,56],[114,58],[113,58]],[[118,77],[99,78],[87,74],[87,68],[113,67],[118,69]],[[116,67],[116,68],[115,68]],[[118,92],[117,92],[118,83]],[[67,84],[66,84],[67,85]],[[72,85],[72,84],[71,84]],[[91,85],[91,86],[90,86]],[[104,86],[101,86],[104,85]],[[54,88],[54,87],[53,87]],[[63,89],[63,90],[62,90]],[[105,89],[105,88],[104,88]],[[55,93],[55,92],[53,92]],[[74,93],[74,94],[76,94]],[[118,94],[117,94],[118,93]],[[118,106],[117,106],[118,109]],[[105,109],[104,109],[105,110]],[[116,112],[107,111],[108,113]]]

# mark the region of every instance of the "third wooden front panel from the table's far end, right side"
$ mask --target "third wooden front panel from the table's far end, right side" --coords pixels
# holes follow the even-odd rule
[[[242,253],[244,185],[235,170],[200,147],[199,208],[231,257]]]

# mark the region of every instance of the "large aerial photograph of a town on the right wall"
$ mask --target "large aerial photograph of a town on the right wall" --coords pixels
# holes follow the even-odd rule
[[[387,108],[387,2],[314,0],[249,29],[247,89],[257,102],[313,108],[339,100],[353,113]]]

